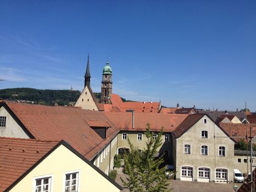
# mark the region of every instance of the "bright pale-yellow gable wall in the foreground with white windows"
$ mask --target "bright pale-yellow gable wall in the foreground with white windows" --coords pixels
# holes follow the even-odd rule
[[[27,174],[11,192],[35,191],[35,178],[51,176],[52,192],[65,191],[65,172],[79,172],[79,190],[84,191],[120,191],[113,183],[99,174],[76,154],[61,145]]]

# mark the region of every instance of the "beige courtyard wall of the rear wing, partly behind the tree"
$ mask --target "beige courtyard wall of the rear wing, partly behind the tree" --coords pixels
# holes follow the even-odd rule
[[[119,148],[130,148],[129,143],[127,140],[123,140],[123,133],[127,133],[127,137],[129,137],[130,142],[135,146],[137,149],[144,149],[146,148],[146,135],[145,132],[141,131],[121,131],[118,133],[118,149]],[[142,141],[137,140],[137,134],[142,134]],[[155,132],[158,134],[157,132]],[[165,141],[165,135],[169,135],[169,141]],[[169,158],[172,159],[172,137],[171,133],[164,132],[162,135],[162,145],[158,148],[158,152],[162,154],[165,150],[169,151]],[[170,162],[171,163],[171,162]]]

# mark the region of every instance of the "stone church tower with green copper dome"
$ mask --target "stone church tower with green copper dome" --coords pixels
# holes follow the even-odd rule
[[[103,68],[102,82],[101,82],[101,103],[110,104],[112,96],[112,69],[107,61]]]

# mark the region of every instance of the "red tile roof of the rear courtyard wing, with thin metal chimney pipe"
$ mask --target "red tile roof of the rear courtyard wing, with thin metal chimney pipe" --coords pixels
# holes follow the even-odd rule
[[[160,131],[162,127],[165,132],[174,130],[187,115],[165,114],[165,113],[134,113],[134,129],[132,129],[132,113],[105,112],[110,121],[121,130],[146,130],[146,125],[151,124],[151,130]]]

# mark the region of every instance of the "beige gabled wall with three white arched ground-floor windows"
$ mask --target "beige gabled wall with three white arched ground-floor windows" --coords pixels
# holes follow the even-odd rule
[[[204,124],[204,119],[207,119],[207,123]],[[201,138],[201,130],[208,131],[208,138]],[[214,138],[214,133],[216,138]],[[181,137],[176,139],[176,179],[181,179],[181,166],[193,167],[193,178],[198,180],[198,168],[206,167],[210,168],[210,180],[215,180],[215,169],[226,168],[228,169],[228,180],[233,180],[233,168],[234,168],[234,142],[230,138],[218,138],[226,137],[227,135],[216,126],[211,119],[204,116],[193,127],[185,132]],[[191,154],[184,154],[184,144],[191,145]],[[208,146],[208,155],[201,155],[201,145]],[[219,146],[226,147],[226,156],[219,156]]]

